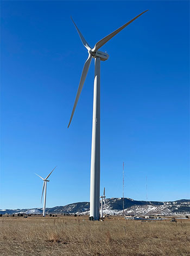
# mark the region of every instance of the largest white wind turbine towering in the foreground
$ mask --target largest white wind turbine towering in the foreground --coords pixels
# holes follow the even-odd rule
[[[81,90],[83,89],[83,85],[85,82],[85,78],[88,72],[88,69],[91,64],[92,58],[94,58],[95,63],[95,74],[94,74],[94,96],[93,96],[93,120],[92,120],[92,149],[91,149],[91,185],[90,185],[90,220],[99,220],[99,198],[100,198],[100,60],[107,60],[109,55],[105,52],[98,51],[100,47],[102,47],[107,41],[109,41],[113,36],[118,34],[122,29],[128,26],[132,21],[136,20],[143,13],[136,16],[131,21],[125,23],[122,27],[118,28],[116,31],[111,34],[105,36],[102,40],[98,41],[96,45],[91,48],[85,40],[84,36],[79,31],[77,25],[74,23],[75,28],[78,31],[81,41],[83,45],[86,47],[88,51],[88,58],[85,62],[83,72],[80,78],[79,87],[77,91],[77,96],[74,101],[74,106],[71,114],[71,118],[69,120],[69,125],[71,124],[73,114],[75,108],[77,106],[77,102],[79,100],[79,96]]]

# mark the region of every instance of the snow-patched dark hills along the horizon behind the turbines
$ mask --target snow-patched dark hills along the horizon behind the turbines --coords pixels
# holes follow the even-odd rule
[[[105,199],[106,208],[104,214],[122,215],[123,198]],[[47,214],[88,214],[90,209],[89,202],[79,202],[65,206],[55,206],[46,208]],[[4,209],[0,214],[42,214],[42,208],[34,209]],[[178,215],[190,214],[190,200],[181,199],[174,202],[138,201],[124,198],[124,214],[133,215]]]

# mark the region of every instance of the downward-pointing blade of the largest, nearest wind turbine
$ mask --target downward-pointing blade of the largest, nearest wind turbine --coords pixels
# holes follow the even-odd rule
[[[77,106],[77,102],[79,100],[81,90],[83,89],[83,85],[84,85],[84,82],[85,82],[85,79],[86,79],[86,75],[87,75],[88,69],[89,69],[90,64],[91,64],[91,60],[92,60],[92,56],[91,56],[91,54],[89,54],[88,58],[87,58],[87,60],[85,62],[85,65],[84,65],[82,75],[80,77],[80,83],[79,83],[79,87],[78,87],[78,91],[77,91],[77,96],[75,97],[71,118],[69,120],[69,124],[68,124],[67,128],[71,124],[71,121],[72,121],[72,118],[73,118],[73,114],[74,114],[75,108]]]

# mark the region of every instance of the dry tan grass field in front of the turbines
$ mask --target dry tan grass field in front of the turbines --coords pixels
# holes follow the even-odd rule
[[[1,217],[1,256],[190,256],[190,221]]]

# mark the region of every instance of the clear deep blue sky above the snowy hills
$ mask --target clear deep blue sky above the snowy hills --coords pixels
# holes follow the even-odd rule
[[[189,198],[189,2],[1,1],[1,205],[90,199],[94,63],[69,129],[86,48],[142,11],[100,50],[101,192]]]

